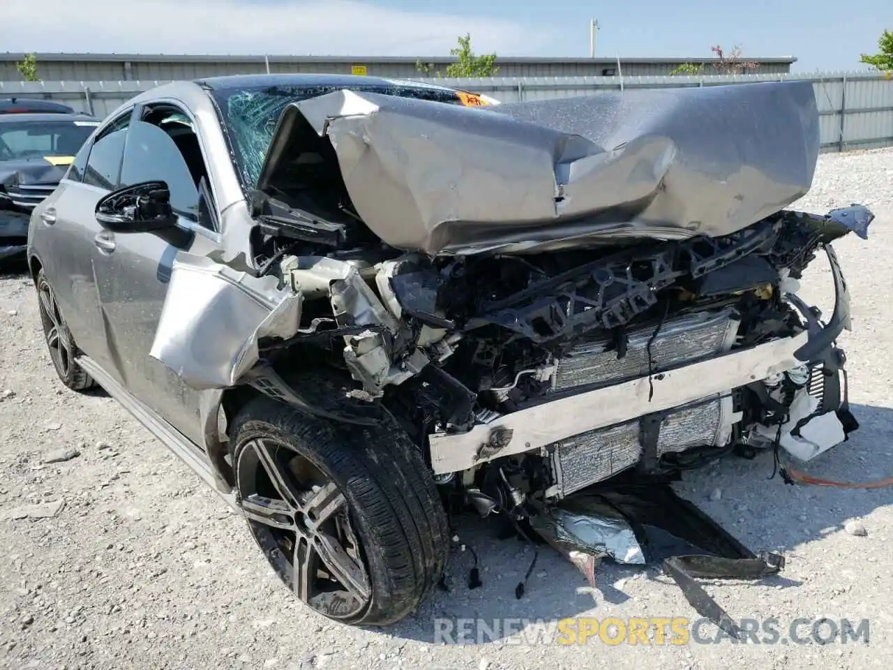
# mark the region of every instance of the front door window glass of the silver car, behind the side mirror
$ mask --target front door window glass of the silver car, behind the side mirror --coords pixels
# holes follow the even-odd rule
[[[174,212],[198,221],[198,188],[176,143],[158,126],[135,121],[130,126],[124,151],[121,186],[143,181],[167,183]]]

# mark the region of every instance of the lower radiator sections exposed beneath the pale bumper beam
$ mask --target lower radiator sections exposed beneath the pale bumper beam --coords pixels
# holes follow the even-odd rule
[[[663,416],[656,455],[728,444],[732,426],[740,419],[730,396],[704,398],[679,407]],[[641,422],[636,419],[549,445],[554,486],[547,496],[563,498],[636,465],[642,454],[640,434]]]

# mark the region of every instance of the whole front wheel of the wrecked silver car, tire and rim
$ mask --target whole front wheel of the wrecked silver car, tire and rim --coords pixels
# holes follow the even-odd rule
[[[449,549],[447,516],[421,453],[387,415],[373,427],[347,425],[255,398],[232,423],[230,456],[239,507],[255,541],[280,579],[323,616],[393,624],[413,613],[440,580]],[[317,488],[308,491],[314,482]],[[313,503],[317,498],[321,502]],[[338,538],[343,541],[335,551]],[[345,587],[348,582],[353,587]]]

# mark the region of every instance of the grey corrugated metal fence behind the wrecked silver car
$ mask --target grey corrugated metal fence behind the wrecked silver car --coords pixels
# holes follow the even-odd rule
[[[558,77],[427,80],[488,94],[503,102],[591,96],[628,88],[717,86],[754,81],[811,81],[821,114],[822,149],[846,151],[893,145],[893,80],[876,72],[753,74],[704,77]],[[39,96],[103,117],[163,81],[0,81],[0,97]]]

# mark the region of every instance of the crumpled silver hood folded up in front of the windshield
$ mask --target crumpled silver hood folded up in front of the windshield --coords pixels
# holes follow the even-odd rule
[[[485,108],[342,90],[288,105],[262,190],[300,117],[369,228],[429,255],[728,235],[803,196],[819,151],[802,81]]]

